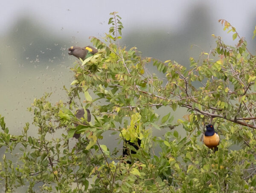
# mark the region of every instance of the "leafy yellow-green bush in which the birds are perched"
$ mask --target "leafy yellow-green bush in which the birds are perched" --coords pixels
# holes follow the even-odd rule
[[[29,123],[22,135],[11,135],[0,116],[0,145],[6,150],[0,163],[1,188],[12,192],[28,186],[33,193],[39,184],[40,192],[64,193],[254,192],[256,57],[244,38],[220,20],[237,45],[225,45],[212,35],[216,48],[202,52],[198,61],[190,58],[186,69],[175,61],[142,57],[135,47],[121,47],[120,20],[111,13],[106,37],[91,37],[99,52],[72,68],[68,102],[51,104],[49,94],[34,100],[29,111],[35,115],[38,136],[29,136]],[[148,65],[165,78],[151,74]],[[156,110],[163,106],[169,111],[160,117]],[[178,107],[188,113],[172,123]],[[93,121],[77,119],[78,108],[89,108]],[[200,140],[208,123],[221,136],[215,153]],[[176,125],[183,126],[186,137],[173,130]],[[151,129],[166,127],[162,138],[152,136]],[[53,138],[59,129],[63,134]],[[120,148],[110,150],[101,143],[107,131],[113,131],[113,142],[142,140],[137,154],[129,155],[131,165],[125,164]],[[82,135],[71,147],[75,132]],[[161,148],[158,154],[155,145]]]

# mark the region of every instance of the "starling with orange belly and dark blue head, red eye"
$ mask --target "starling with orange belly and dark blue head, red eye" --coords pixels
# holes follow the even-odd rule
[[[220,137],[215,132],[212,124],[206,125],[206,132],[204,133],[204,145],[212,149],[214,152],[218,150]]]

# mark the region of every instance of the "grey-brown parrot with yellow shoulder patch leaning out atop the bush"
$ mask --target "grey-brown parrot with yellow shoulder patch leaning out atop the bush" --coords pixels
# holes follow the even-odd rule
[[[77,57],[78,59],[81,58],[82,60],[85,60],[87,57],[93,56],[96,54],[98,50],[96,48],[93,48],[90,45],[87,45],[86,47],[78,47],[78,46],[71,46],[68,48],[68,54],[73,55]]]

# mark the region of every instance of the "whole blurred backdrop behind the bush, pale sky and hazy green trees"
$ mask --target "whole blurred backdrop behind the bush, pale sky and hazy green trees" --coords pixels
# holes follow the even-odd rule
[[[254,1],[234,0],[1,2],[0,114],[5,116],[10,132],[19,134],[25,122],[32,122],[26,108],[34,98],[52,92],[51,102],[66,101],[63,85],[69,87],[73,78],[70,67],[76,61],[67,54],[67,48],[90,45],[89,36],[104,37],[112,11],[119,12],[125,27],[122,45],[136,46],[147,57],[175,60],[189,67],[189,57],[198,59],[202,50],[209,53],[215,48],[211,34],[236,44],[232,34],[222,30],[218,19],[235,26],[254,54],[255,8]],[[157,73],[156,68],[149,68]],[[169,109],[160,108],[159,114]],[[186,109],[178,109],[175,119],[184,114]],[[36,135],[37,130],[30,132]],[[108,144],[108,138],[105,142],[113,145]]]

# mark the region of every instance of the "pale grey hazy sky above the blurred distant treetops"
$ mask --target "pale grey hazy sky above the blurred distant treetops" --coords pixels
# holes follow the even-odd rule
[[[0,32],[24,14],[42,22],[49,31],[59,35],[83,37],[83,34],[102,35],[108,30],[109,13],[118,11],[125,29],[163,26],[175,29],[189,17],[189,10],[198,4],[208,8],[213,25],[226,19],[242,34],[247,24],[255,20],[256,1],[240,0],[1,0]],[[218,28],[221,28],[218,26]],[[254,26],[250,26],[254,28]]]

